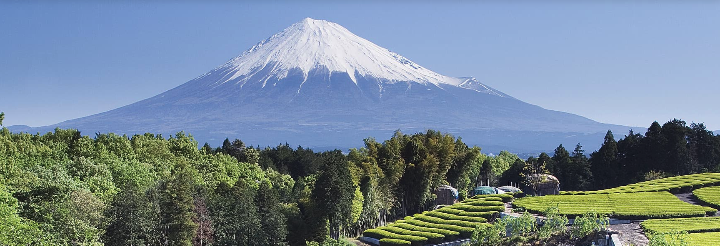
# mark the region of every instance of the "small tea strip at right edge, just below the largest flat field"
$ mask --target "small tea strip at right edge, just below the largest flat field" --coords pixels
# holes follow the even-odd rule
[[[720,232],[720,217],[652,219],[640,223],[646,233]]]

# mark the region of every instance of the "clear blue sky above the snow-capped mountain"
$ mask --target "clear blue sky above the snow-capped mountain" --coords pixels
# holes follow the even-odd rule
[[[0,111],[43,126],[121,107],[311,17],[544,108],[717,130],[720,2],[678,2],[2,1]]]

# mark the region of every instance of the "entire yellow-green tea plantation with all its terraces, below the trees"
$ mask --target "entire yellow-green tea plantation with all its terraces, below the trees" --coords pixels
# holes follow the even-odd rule
[[[535,214],[557,208],[559,215],[567,217],[596,212],[617,219],[646,220],[641,226],[648,235],[683,232],[688,233],[683,237],[689,245],[720,245],[720,217],[706,217],[717,210],[684,202],[673,195],[691,191],[703,202],[720,207],[720,173],[685,175],[599,191],[569,191],[514,201],[510,194],[475,196],[366,230],[363,235],[379,239],[381,246],[439,244],[469,238],[476,228],[490,228],[492,225],[488,222],[505,210],[505,203],[513,202],[514,207]]]

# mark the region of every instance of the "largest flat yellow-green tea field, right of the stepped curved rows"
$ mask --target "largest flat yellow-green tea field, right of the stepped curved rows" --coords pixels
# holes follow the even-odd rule
[[[569,217],[595,211],[619,219],[696,217],[717,211],[683,202],[666,191],[526,197],[516,200],[514,206],[532,213],[558,207],[560,214]]]

